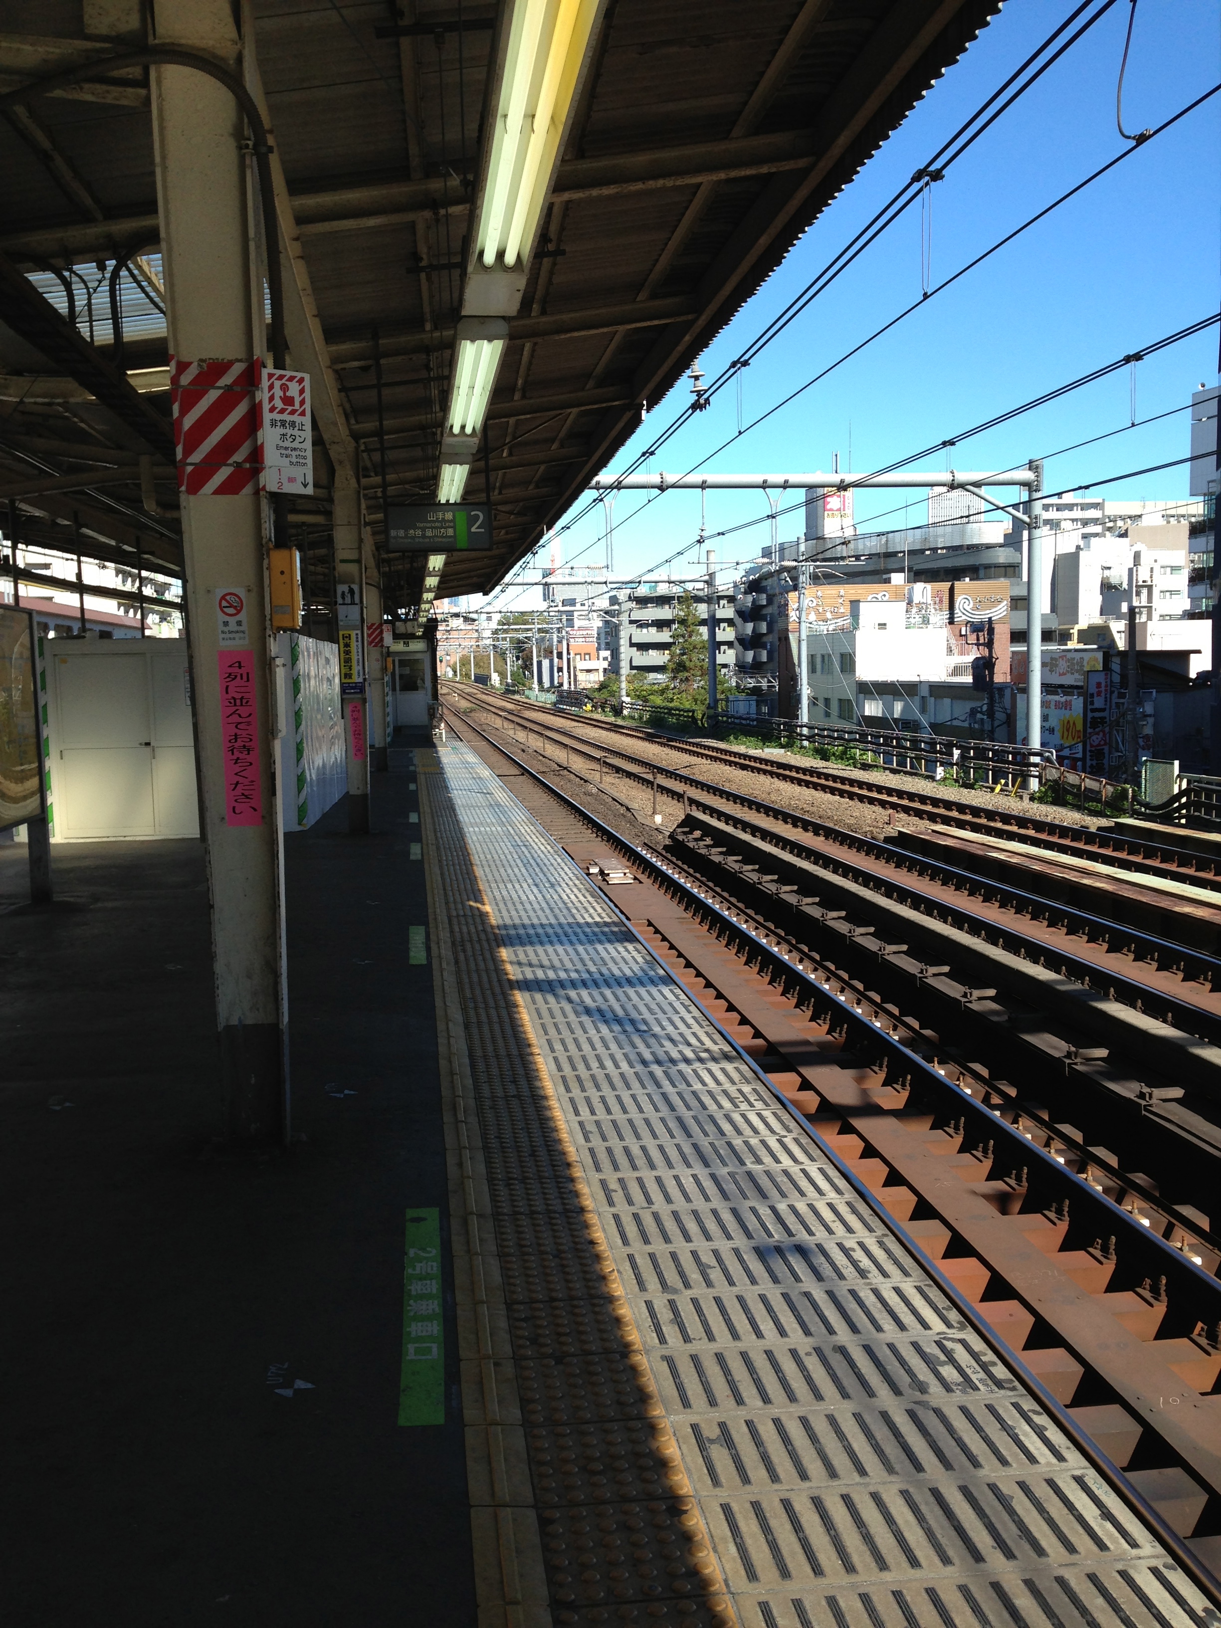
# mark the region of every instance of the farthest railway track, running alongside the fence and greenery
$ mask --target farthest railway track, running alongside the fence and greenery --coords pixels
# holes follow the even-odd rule
[[[461,697],[464,705],[470,703],[470,694],[457,685],[446,687],[451,695]],[[624,736],[663,752],[681,752],[690,759],[703,759],[747,773],[764,775],[768,780],[786,781],[804,786],[811,791],[822,791],[829,796],[845,798],[855,803],[866,803],[873,807],[886,809],[923,821],[934,821],[939,825],[959,832],[977,835],[995,835],[998,830],[1011,834],[1022,843],[1057,853],[1066,858],[1089,860],[1094,864],[1114,866],[1135,874],[1153,876],[1162,881],[1188,882],[1208,892],[1221,892],[1221,856],[1216,860],[1190,847],[1179,847],[1169,838],[1131,835],[1128,832],[1094,830],[1091,827],[1066,825],[1060,821],[1040,819],[1034,814],[1008,809],[988,809],[987,814],[970,814],[961,799],[941,796],[934,791],[918,788],[899,788],[879,785],[868,775],[850,775],[819,768],[814,765],[785,762],[780,754],[764,757],[759,752],[744,752],[729,746],[710,741],[676,739],[654,729],[637,724],[609,723],[596,713],[581,713],[580,731],[573,724],[562,721],[563,715],[554,707],[537,702],[497,698],[485,700],[482,695],[477,705],[487,711],[500,711],[501,716],[516,713],[529,718],[529,728],[552,729],[580,739],[580,731],[586,734],[593,729],[614,751],[614,742]],[[646,762],[628,759],[630,762]]]

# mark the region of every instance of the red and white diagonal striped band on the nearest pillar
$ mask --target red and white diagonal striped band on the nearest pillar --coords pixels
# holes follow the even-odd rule
[[[177,490],[246,497],[260,484],[259,361],[169,358]]]

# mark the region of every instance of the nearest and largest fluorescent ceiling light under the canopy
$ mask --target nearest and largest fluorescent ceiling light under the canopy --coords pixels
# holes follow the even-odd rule
[[[513,0],[475,244],[514,265],[547,202],[599,0]]]

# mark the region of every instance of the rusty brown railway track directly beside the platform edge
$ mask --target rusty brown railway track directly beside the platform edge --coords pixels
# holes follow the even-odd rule
[[[845,969],[601,822],[464,718],[495,764],[892,1221],[1193,1551],[1221,1563],[1221,1284],[1174,1223],[987,1070],[930,1055]],[[698,824],[690,832],[698,847]],[[630,886],[588,855],[619,855]],[[1097,1180],[1104,1174],[1125,1208]],[[1167,1226],[1167,1237],[1159,1226]],[[1180,1239],[1182,1242],[1182,1232]],[[1216,1244],[1216,1241],[1210,1241]],[[1216,1265],[1218,1250],[1210,1263]]]

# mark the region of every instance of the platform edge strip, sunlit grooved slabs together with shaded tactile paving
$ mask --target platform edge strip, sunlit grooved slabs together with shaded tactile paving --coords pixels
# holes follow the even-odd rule
[[[583,874],[620,861],[511,785],[420,754],[480,1618],[1211,1620],[615,908],[632,884]]]

